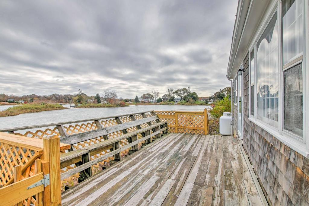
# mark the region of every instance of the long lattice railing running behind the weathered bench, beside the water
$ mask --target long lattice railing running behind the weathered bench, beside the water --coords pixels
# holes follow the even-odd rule
[[[127,114],[123,116],[111,116],[111,117],[102,117],[102,118],[95,118],[95,119],[87,119],[87,120],[78,120],[78,121],[70,121],[70,122],[60,122],[60,123],[54,123],[54,124],[43,124],[43,125],[33,125],[33,126],[26,126],[26,127],[18,127],[18,128],[8,128],[8,129],[1,129],[1,132],[9,132],[14,133],[15,135],[24,136],[24,137],[31,137],[34,139],[43,139],[44,137],[47,137],[49,135],[56,136],[56,137],[64,137],[64,136],[70,136],[75,134],[80,134],[84,132],[89,132],[93,130],[98,130],[100,128],[107,128],[123,123],[128,123],[133,120],[141,120],[143,118],[147,118],[150,116],[153,116],[155,114],[151,114],[151,111],[146,111],[143,113],[134,113],[134,114]],[[150,124],[155,124],[156,121],[151,121]],[[140,128],[145,128],[149,126],[148,123],[139,125]],[[133,132],[138,130],[137,126],[133,126],[131,128],[127,128],[125,131],[117,131],[113,132],[111,134],[108,134],[108,138],[116,138],[124,134],[124,132]],[[151,131],[151,133],[153,133]],[[141,134],[137,135],[138,139],[142,138]],[[106,137],[95,137],[93,139],[87,140],[87,141],[81,141],[76,144],[73,144],[72,149],[81,149],[90,145],[97,144],[99,142],[104,141]],[[138,147],[141,147],[142,143],[145,141],[142,141],[138,144]],[[127,139],[121,140],[120,147],[124,147],[125,145],[128,145],[129,142]],[[68,150],[63,151],[68,152]],[[104,151],[100,151],[99,153],[92,154],[90,159],[95,160],[96,158],[100,158],[107,153],[111,152],[111,148],[106,149]],[[129,152],[129,149],[125,149],[124,151],[121,151],[121,156],[124,157]],[[2,157],[2,154],[1,154]],[[103,168],[109,166],[110,160],[113,160],[113,157],[106,158],[95,165],[92,166],[92,172],[96,172],[98,170],[102,170]],[[14,167],[14,166],[13,166]],[[103,167],[103,168],[102,168]],[[66,165],[65,167],[61,168],[61,173],[65,173],[69,170],[72,170],[76,168],[76,164],[72,163],[70,165]],[[13,169],[11,168],[11,171]],[[0,176],[0,185],[5,185],[8,178],[11,178],[11,174],[7,174],[9,177],[4,176],[3,178]],[[80,178],[80,173],[76,173],[71,175],[70,177],[67,177],[66,179],[62,180],[63,187],[65,185],[75,185],[78,181],[77,179]],[[12,182],[10,182],[12,183]]]

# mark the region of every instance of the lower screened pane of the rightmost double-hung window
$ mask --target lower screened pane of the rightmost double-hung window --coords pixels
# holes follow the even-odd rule
[[[302,63],[283,72],[283,128],[303,137],[303,68]]]

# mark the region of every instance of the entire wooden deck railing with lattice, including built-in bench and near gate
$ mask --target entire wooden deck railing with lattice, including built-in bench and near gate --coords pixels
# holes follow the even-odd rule
[[[147,111],[1,129],[0,193],[26,188],[22,195],[10,195],[6,203],[58,204],[65,187],[89,178],[95,170],[110,166],[167,130],[208,134],[207,110]],[[50,186],[33,186],[46,182],[47,174],[50,175]],[[55,183],[51,183],[52,178]],[[35,189],[29,189],[31,185]]]

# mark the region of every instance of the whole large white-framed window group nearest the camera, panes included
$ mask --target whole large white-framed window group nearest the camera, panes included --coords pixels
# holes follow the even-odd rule
[[[309,157],[307,0],[277,0],[248,50],[249,120]],[[280,10],[278,10],[280,8]],[[306,21],[305,21],[306,20]],[[281,46],[280,46],[281,45]],[[307,104],[307,105],[306,105]],[[306,139],[307,138],[307,139]]]

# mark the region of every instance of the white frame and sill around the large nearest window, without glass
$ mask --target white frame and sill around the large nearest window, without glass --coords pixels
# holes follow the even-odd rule
[[[256,55],[256,42],[260,39],[260,36],[264,32],[265,28],[270,22],[270,19],[273,17],[275,12],[277,11],[277,21],[278,21],[278,71],[279,71],[279,98],[278,98],[278,128],[273,127],[269,124],[266,124],[265,122],[257,119],[257,55]],[[260,126],[263,128],[266,132],[269,132],[274,137],[276,137],[279,141],[283,142],[287,146],[289,146],[291,149],[294,149],[298,153],[302,154],[303,156],[309,157],[309,102],[308,102],[308,92],[309,92],[309,72],[307,65],[309,65],[309,58],[306,57],[306,54],[309,54],[309,46],[306,46],[306,44],[309,43],[309,2],[303,0],[303,53],[299,54],[294,59],[297,59],[300,56],[303,56],[303,59],[301,61],[294,62],[292,65],[286,67],[283,69],[283,61],[282,61],[282,16],[281,16],[281,0],[275,0],[273,1],[273,4],[266,15],[267,18],[265,18],[264,22],[262,23],[262,26],[259,28],[256,36],[253,38],[253,43],[249,47],[248,50],[248,58],[249,58],[249,120],[252,121],[254,124]],[[251,115],[251,65],[250,65],[250,53],[252,49],[255,49],[255,97],[254,97],[254,116]],[[291,61],[290,61],[291,62]],[[293,65],[298,64],[299,62],[303,63],[303,139],[301,140],[297,135],[292,134],[291,132],[288,132],[283,129],[283,118],[284,118],[284,108],[283,108],[283,71],[291,68]]]

